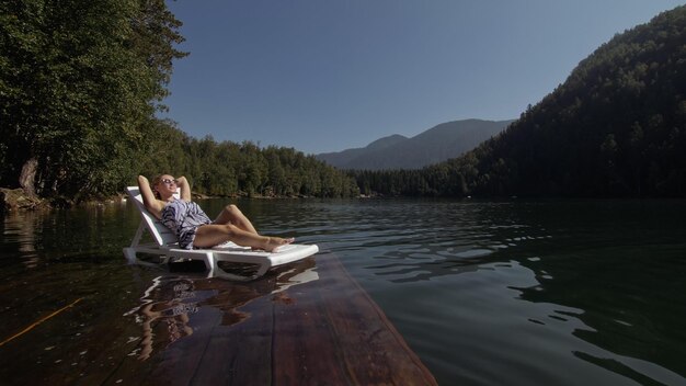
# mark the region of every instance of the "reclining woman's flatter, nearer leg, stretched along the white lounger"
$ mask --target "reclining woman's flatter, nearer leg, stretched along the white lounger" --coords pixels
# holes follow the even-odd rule
[[[260,236],[258,234],[240,229],[232,224],[210,224],[203,225],[197,228],[193,246],[198,248],[210,248],[226,241],[233,241],[239,246],[264,249],[271,252],[279,246],[293,242],[294,239]]]

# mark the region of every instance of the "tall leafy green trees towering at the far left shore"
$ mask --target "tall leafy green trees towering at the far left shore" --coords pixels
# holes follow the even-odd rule
[[[0,3],[3,185],[37,160],[37,193],[106,194],[145,154],[180,23],[163,0]]]

